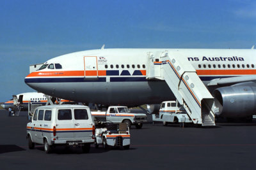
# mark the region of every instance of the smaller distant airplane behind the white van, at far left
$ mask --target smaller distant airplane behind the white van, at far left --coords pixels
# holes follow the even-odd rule
[[[17,101],[15,101],[15,99],[17,99]],[[17,105],[17,102],[20,104],[22,111],[28,111],[29,102],[32,104],[45,105],[47,103],[47,98],[45,94],[42,94],[40,92],[26,92],[22,94],[13,95],[12,99],[10,99],[9,101],[6,101],[3,104],[0,104],[0,106],[5,110],[8,110],[8,108],[12,108],[13,110],[15,110],[16,108],[15,105]],[[61,99],[60,102],[63,103],[68,101]]]

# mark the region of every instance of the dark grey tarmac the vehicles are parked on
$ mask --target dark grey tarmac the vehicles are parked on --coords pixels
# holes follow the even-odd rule
[[[29,150],[27,122],[26,112],[0,110],[0,169],[256,169],[255,120],[211,128],[149,123],[131,128],[129,150],[92,145],[90,153],[57,147],[50,154],[42,145]]]

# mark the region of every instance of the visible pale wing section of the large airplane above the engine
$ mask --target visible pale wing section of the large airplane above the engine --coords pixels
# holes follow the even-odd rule
[[[230,77],[230,78],[216,78],[211,80],[207,86],[214,86],[214,85],[233,85],[236,83],[244,83],[248,81],[256,81],[256,75],[248,75],[248,76],[237,76],[237,77]]]

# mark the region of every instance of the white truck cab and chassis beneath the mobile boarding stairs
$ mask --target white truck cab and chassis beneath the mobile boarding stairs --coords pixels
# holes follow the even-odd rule
[[[180,127],[184,127],[184,124],[193,123],[188,117],[186,110],[175,101],[164,101],[161,103],[159,114],[152,114],[152,121],[153,123],[163,122],[163,125],[177,123],[180,124]]]

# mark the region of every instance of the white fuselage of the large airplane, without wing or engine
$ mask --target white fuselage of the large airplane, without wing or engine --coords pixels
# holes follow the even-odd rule
[[[205,84],[256,73],[255,50],[103,49],[47,60],[49,65],[29,74],[25,82],[44,94],[83,103],[159,104],[175,97],[165,81],[146,79],[148,53],[165,50],[170,57],[189,60]]]

